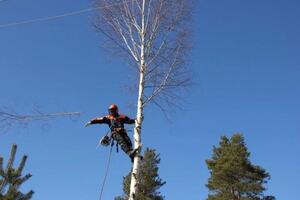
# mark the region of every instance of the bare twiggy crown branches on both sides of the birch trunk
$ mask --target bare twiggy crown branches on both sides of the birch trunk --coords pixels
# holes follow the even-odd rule
[[[142,19],[145,19],[143,29],[145,32],[144,67],[145,77],[147,77],[145,85],[152,85],[153,89],[151,93],[148,93],[150,91],[145,93],[148,98],[150,97],[150,99],[145,98],[146,104],[162,90],[177,90],[175,86],[188,85],[190,78],[185,72],[184,60],[189,49],[186,40],[189,32],[186,21],[189,20],[190,1],[98,0],[97,2],[103,6],[99,14],[99,18],[102,18],[101,28],[105,27],[106,33],[109,33],[114,38],[113,41],[119,44],[117,46],[125,47],[130,52],[136,66],[139,66],[141,59],[138,51],[141,51],[140,35]],[[120,2],[123,4],[109,6]],[[141,18],[141,16],[145,17]],[[153,87],[154,85],[157,87]]]

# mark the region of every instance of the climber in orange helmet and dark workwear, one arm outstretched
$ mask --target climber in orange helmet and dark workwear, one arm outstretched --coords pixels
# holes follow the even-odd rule
[[[112,104],[108,108],[108,115],[105,117],[94,118],[89,121],[85,126],[89,126],[91,124],[107,124],[111,131],[111,138],[117,142],[122,148],[122,150],[129,155],[131,161],[133,162],[133,158],[136,150],[132,149],[132,143],[130,138],[128,137],[126,130],[124,128],[124,124],[134,124],[135,120],[130,119],[125,115],[119,114],[118,106]],[[105,140],[107,136],[102,139],[101,144],[108,145],[109,139]]]

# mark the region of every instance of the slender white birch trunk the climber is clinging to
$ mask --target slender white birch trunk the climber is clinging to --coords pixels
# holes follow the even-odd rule
[[[142,139],[141,139],[141,128],[144,120],[143,115],[143,103],[144,103],[144,89],[145,89],[145,70],[146,70],[146,62],[145,62],[145,0],[143,0],[142,10],[142,27],[140,32],[141,38],[141,60],[140,60],[140,80],[139,80],[139,87],[138,87],[138,99],[137,99],[137,115],[136,115],[136,123],[134,128],[134,147],[139,148],[139,151],[134,157],[132,173],[131,173],[131,183],[130,183],[130,196],[129,200],[136,200],[136,195],[138,192],[138,176],[140,170],[140,153],[141,153],[141,146],[142,146]]]

